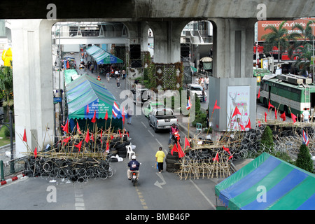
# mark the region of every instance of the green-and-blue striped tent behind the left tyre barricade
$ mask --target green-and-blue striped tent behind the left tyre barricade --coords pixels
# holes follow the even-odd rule
[[[89,126],[92,127],[90,120],[94,113],[97,118],[97,127],[109,127],[112,118],[112,108],[114,102],[118,104],[116,98],[104,87],[104,84],[88,75],[83,75],[66,85],[66,102],[68,106],[68,119],[70,127],[73,130],[76,125],[74,120],[79,120],[81,128],[85,128],[85,120],[89,120]],[[119,106],[119,104],[118,104]],[[108,116],[107,123],[104,118]],[[122,116],[113,116],[112,127],[122,127]],[[81,120],[81,121],[80,121]]]

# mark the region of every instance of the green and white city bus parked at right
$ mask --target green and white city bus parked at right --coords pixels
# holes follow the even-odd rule
[[[281,113],[285,112],[286,116],[293,113],[300,118],[305,108],[309,113],[313,111],[315,87],[310,78],[291,74],[262,79],[259,102],[266,107],[270,102]]]

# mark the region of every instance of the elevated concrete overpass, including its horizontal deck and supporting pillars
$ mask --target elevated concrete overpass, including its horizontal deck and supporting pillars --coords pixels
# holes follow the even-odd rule
[[[214,26],[214,74],[209,88],[214,129],[227,127],[228,87],[246,87],[248,118],[255,120],[253,74],[254,24],[267,20],[314,17],[315,0],[116,0],[116,1],[1,1],[0,18],[12,19],[13,83],[17,156],[27,148],[18,134],[33,136],[29,147],[53,137],[52,38],[55,22],[123,22],[132,43],[144,49],[148,27],[154,33],[155,62],[180,61],[180,36],[191,20],[210,20]],[[262,3],[262,5],[259,5]],[[51,6],[51,5],[50,5]],[[53,20],[47,20],[53,19]],[[217,128],[216,128],[217,127]],[[48,137],[49,136],[49,137]]]

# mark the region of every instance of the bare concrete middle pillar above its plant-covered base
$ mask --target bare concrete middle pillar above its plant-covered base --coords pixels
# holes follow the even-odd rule
[[[181,62],[181,31],[189,21],[148,22],[154,35],[154,62]]]

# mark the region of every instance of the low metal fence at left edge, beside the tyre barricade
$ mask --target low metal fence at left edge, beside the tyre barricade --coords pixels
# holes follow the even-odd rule
[[[25,158],[18,158],[15,160],[10,160],[8,162],[3,162],[0,160],[0,176],[1,181],[4,181],[6,176],[10,176],[21,172],[25,169]]]

